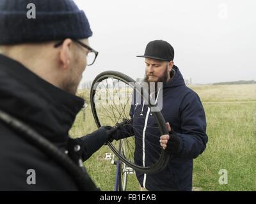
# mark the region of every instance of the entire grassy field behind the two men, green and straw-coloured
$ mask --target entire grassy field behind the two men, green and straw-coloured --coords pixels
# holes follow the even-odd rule
[[[191,89],[203,102],[209,136],[207,149],[194,160],[193,187],[197,191],[256,191],[256,85],[198,85]],[[79,94],[88,101],[88,93]],[[70,135],[82,136],[96,129],[88,106],[77,115]],[[115,165],[105,159],[108,152],[108,146],[102,147],[84,165],[100,189],[113,191]],[[219,184],[221,169],[227,170],[227,184]],[[127,190],[139,190],[135,175],[129,175]]]

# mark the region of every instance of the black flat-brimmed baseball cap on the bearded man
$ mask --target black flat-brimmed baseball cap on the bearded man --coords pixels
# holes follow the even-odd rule
[[[137,57],[146,57],[170,62],[173,61],[174,58],[174,49],[170,43],[164,40],[154,40],[148,43],[145,54],[138,55]]]

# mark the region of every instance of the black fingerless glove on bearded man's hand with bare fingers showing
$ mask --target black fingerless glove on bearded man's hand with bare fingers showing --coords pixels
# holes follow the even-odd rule
[[[165,149],[166,152],[168,152],[171,155],[177,154],[179,152],[181,138],[173,129],[169,132],[170,139],[167,143],[167,147]]]

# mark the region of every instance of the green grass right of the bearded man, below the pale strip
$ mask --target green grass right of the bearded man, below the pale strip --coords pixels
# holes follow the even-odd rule
[[[204,104],[209,142],[195,159],[194,186],[205,191],[256,190],[255,105]],[[227,185],[218,183],[221,169],[228,171]]]

